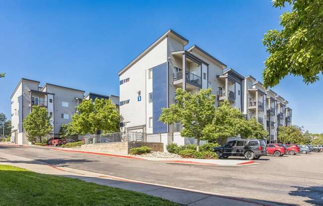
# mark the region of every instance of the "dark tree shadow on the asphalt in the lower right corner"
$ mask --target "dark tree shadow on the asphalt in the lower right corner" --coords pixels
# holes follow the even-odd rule
[[[304,202],[315,206],[323,206],[323,186],[292,186],[292,188],[296,188],[297,190],[289,192],[289,195],[309,198],[309,200],[305,200]]]

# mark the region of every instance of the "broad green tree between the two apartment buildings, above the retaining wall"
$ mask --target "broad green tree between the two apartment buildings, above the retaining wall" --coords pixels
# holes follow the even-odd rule
[[[72,116],[70,131],[77,134],[98,134],[119,130],[119,114],[110,100],[84,100],[77,106],[79,114]]]

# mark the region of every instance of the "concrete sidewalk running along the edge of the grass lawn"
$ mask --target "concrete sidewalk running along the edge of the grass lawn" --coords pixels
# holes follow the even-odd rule
[[[276,206],[275,204],[263,201],[255,201],[198,190],[152,184],[148,182],[141,182],[74,169],[66,166],[61,167],[48,165],[34,159],[5,153],[1,153],[0,164],[8,164],[38,173],[76,178],[86,182],[141,192],[155,197],[161,197],[185,206]]]

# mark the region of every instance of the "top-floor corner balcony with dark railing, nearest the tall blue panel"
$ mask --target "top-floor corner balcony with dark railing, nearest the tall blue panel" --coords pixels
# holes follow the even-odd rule
[[[196,74],[186,71],[186,88],[189,90],[201,89],[202,78]],[[183,86],[183,71],[174,71],[174,86]]]

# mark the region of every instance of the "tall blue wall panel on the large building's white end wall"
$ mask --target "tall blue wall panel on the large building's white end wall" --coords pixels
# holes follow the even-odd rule
[[[153,133],[167,132],[167,125],[159,121],[162,108],[167,107],[167,64],[153,68]]]

